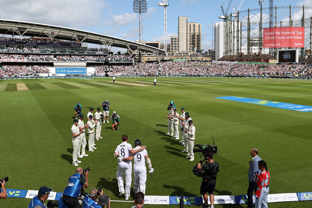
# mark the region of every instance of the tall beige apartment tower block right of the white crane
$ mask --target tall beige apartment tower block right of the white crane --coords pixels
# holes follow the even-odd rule
[[[178,19],[178,43],[179,52],[201,52],[202,39],[201,39],[202,24],[196,22],[189,22],[188,17],[179,16]]]

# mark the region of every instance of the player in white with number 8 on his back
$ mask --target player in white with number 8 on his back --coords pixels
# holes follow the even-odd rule
[[[114,157],[118,157],[118,171],[116,172],[116,177],[119,186],[119,196],[125,194],[125,200],[129,199],[130,189],[131,189],[131,175],[132,175],[132,162],[123,161],[124,157],[129,157],[130,153],[134,154],[145,149],[146,146],[142,146],[137,150],[133,150],[131,144],[128,143],[128,136],[122,136],[122,143],[119,144],[115,150]],[[126,178],[126,189],[124,189],[124,174]]]

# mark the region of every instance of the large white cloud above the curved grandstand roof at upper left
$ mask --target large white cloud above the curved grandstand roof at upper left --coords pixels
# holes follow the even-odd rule
[[[1,1],[0,18],[61,27],[90,28],[100,23],[105,6],[105,2],[101,0]]]

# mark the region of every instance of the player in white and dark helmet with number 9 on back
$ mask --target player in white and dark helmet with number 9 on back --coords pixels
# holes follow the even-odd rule
[[[141,141],[139,139],[134,141],[134,149],[138,150],[141,148]],[[137,153],[130,155],[130,157],[123,158],[124,161],[131,161],[134,158],[133,162],[133,171],[134,171],[134,192],[138,193],[141,191],[145,194],[145,182],[146,182],[146,167],[145,167],[145,159],[149,166],[149,173],[151,177],[153,177],[154,168],[152,168],[151,160],[147,155],[146,149],[140,150]]]

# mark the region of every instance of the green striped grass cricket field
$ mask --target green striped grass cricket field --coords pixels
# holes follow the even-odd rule
[[[215,195],[245,195],[248,188],[248,162],[251,148],[267,162],[271,175],[270,194],[312,191],[311,126],[312,112],[299,112],[268,106],[216,99],[239,96],[312,106],[312,80],[252,78],[149,78],[23,79],[0,80],[1,171],[9,177],[8,189],[38,190],[41,186],[62,192],[68,177],[75,173],[71,165],[71,126],[74,106],[79,101],[82,113],[89,107],[110,102],[110,114],[121,119],[118,131],[111,123],[102,125],[102,137],[95,152],[81,158],[80,166],[90,167],[89,188],[103,186],[111,200],[119,197],[113,158],[121,136],[127,134],[133,146],[140,139],[154,168],[154,177],[146,182],[146,195],[200,196],[201,178],[192,168],[200,160],[189,162],[178,140],[165,135],[167,105],[184,107],[196,127],[195,144],[213,144],[215,138],[220,164]],[[149,86],[135,86],[141,84]],[[19,85],[24,83],[25,85]],[[28,90],[21,89],[26,86]],[[180,111],[178,110],[180,113]],[[133,200],[134,192],[131,188]],[[7,198],[0,207],[27,207],[30,199]],[[131,207],[132,203],[112,202],[111,207]],[[311,207],[312,201],[270,203],[269,207]],[[176,205],[146,205],[146,208]],[[185,206],[189,207],[189,206]],[[191,206],[195,207],[195,206]],[[215,205],[246,207],[246,205]]]

